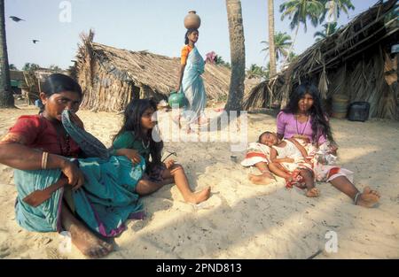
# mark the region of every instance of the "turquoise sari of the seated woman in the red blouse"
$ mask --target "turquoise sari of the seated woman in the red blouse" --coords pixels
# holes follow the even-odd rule
[[[65,113],[65,114],[64,114]],[[66,131],[79,144],[83,152],[93,145],[102,145],[83,129],[74,127],[63,113]],[[109,151],[97,148],[98,157],[71,158],[84,173],[85,182],[81,189],[72,192],[72,210],[88,227],[103,236],[116,236],[126,228],[127,219],[142,219],[143,204],[136,193],[137,182],[145,172],[145,160],[133,165],[122,156],[109,156]],[[14,170],[17,185],[16,219],[21,227],[36,232],[60,231],[61,203],[66,189],[61,188],[51,198],[37,207],[26,204],[22,199],[36,189],[45,189],[59,180],[61,171],[51,170]],[[67,185],[66,185],[67,186]]]

